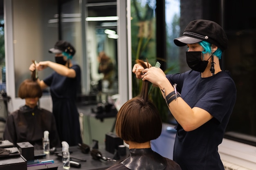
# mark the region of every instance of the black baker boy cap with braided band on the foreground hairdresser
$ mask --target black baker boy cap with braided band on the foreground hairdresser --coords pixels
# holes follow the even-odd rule
[[[216,22],[209,20],[194,20],[186,26],[183,36],[174,39],[177,46],[207,41],[218,46],[222,51],[227,49],[228,39],[225,31]]]

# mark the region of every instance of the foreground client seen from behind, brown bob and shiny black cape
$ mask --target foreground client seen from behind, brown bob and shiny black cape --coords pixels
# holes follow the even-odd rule
[[[137,60],[144,68],[143,61]],[[126,102],[117,113],[116,133],[129,144],[129,156],[107,170],[181,170],[173,160],[153,151],[150,141],[162,132],[162,120],[153,102],[148,100],[148,81],[141,94]]]

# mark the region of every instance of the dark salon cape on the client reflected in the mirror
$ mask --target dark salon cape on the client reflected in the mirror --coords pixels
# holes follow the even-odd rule
[[[54,116],[48,110],[22,106],[7,117],[4,140],[16,146],[19,142],[29,142],[35,150],[43,149],[44,131],[49,131],[50,148],[60,147]]]

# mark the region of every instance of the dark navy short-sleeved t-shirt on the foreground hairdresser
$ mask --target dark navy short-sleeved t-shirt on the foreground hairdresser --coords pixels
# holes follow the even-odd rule
[[[177,124],[173,160],[182,170],[224,170],[218,145],[221,144],[236,101],[236,86],[228,72],[201,78],[200,72],[166,75],[177,84],[182,99],[191,107],[209,112],[213,118],[199,128],[186,132]]]

